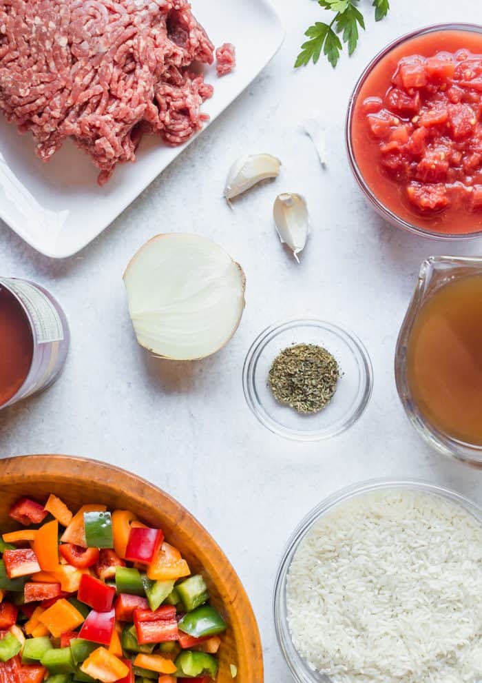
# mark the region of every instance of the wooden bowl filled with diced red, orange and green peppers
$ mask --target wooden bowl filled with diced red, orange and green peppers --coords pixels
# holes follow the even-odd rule
[[[262,681],[227,558],[180,504],[116,467],[0,462],[0,681]]]

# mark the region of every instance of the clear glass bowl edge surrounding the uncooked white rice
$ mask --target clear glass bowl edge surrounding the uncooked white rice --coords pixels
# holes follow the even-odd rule
[[[311,512],[309,512],[300,522],[289,538],[280,563],[280,568],[277,571],[273,599],[277,642],[282,651],[284,660],[291,671],[291,675],[293,675],[293,678],[297,683],[333,682],[330,677],[313,671],[313,669],[308,666],[308,663],[297,653],[295,646],[291,641],[286,611],[286,579],[288,577],[291,561],[302,540],[310,533],[317,522],[319,522],[319,520],[328,512],[333,510],[334,507],[337,507],[337,505],[340,505],[347,500],[356,498],[357,496],[363,496],[372,491],[384,491],[388,489],[408,489],[409,491],[432,493],[433,495],[445,498],[452,503],[459,504],[482,524],[482,509],[468,500],[468,498],[461,496],[456,491],[417,480],[370,480],[362,482],[334,493],[333,496],[326,498],[319,503],[317,507],[313,508],[313,510],[311,510]]]

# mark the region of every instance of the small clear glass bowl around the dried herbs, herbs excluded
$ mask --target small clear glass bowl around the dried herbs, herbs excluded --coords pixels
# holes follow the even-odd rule
[[[273,360],[293,344],[317,344],[335,356],[340,378],[328,405],[300,414],[274,398],[268,385]],[[248,351],[242,371],[244,397],[253,414],[275,434],[299,441],[327,439],[362,415],[373,387],[373,370],[362,342],[348,330],[317,318],[286,320],[266,327]]]

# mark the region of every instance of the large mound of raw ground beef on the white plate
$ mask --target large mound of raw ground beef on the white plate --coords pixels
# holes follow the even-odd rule
[[[0,109],[43,161],[72,136],[103,185],[143,134],[202,128],[213,50],[187,0],[0,0]]]

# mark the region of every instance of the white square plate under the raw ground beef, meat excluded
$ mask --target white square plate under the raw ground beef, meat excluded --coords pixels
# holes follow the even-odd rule
[[[236,48],[232,74],[218,78],[214,66],[205,69],[215,90],[203,111],[213,121],[280,48],[284,29],[269,0],[194,0],[193,12],[216,46],[229,41]],[[43,163],[34,154],[30,134],[19,135],[0,114],[0,216],[41,254],[72,256],[112,223],[185,147],[166,147],[157,136],[145,137],[136,163],[119,166],[107,185],[99,187],[96,167],[73,143],[67,141]]]

